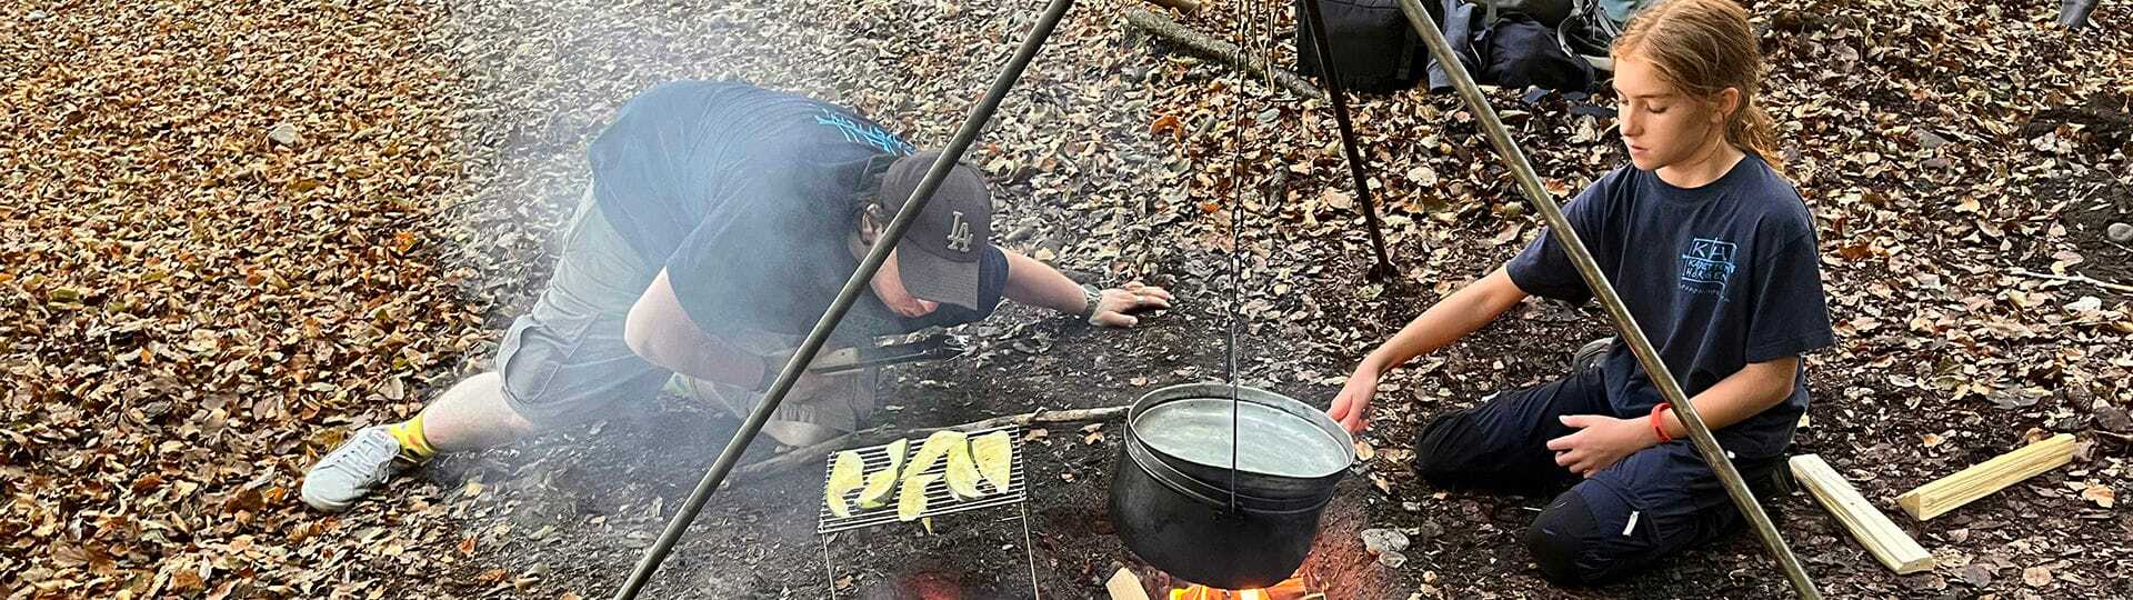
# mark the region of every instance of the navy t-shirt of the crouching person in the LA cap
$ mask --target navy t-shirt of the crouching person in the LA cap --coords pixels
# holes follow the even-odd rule
[[[747,83],[680,81],[623,105],[587,152],[608,222],[665,265],[683,310],[706,333],[806,333],[857,271],[849,237],[866,162],[913,154],[857,113]],[[862,295],[836,333],[845,342],[985,318],[1007,284],[998,250],[979,305],[902,318]]]

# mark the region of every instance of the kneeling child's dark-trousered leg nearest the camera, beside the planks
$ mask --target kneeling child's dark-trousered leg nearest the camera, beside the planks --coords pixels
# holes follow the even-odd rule
[[[1770,480],[1783,463],[1783,457],[1734,459],[1751,483]],[[1755,498],[1770,493],[1753,491]],[[1557,495],[1525,532],[1525,547],[1551,583],[1589,585],[1743,523],[1717,474],[1683,440],[1630,455]]]

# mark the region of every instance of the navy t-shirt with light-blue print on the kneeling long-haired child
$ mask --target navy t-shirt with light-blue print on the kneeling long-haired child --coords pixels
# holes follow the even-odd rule
[[[1689,397],[1747,363],[1834,344],[1815,220],[1800,192],[1753,154],[1702,188],[1621,167],[1585,188],[1563,216]],[[1591,297],[1546,231],[1506,269],[1529,295],[1572,303]],[[1602,369],[1615,416],[1647,416],[1662,401],[1625,344],[1608,348]],[[1738,457],[1781,455],[1807,412],[1805,361],[1794,378],[1785,401],[1713,431],[1719,444]]]

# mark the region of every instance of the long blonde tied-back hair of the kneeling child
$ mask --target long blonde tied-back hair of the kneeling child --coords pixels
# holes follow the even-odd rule
[[[1713,100],[1741,90],[1741,107],[1726,117],[1726,141],[1785,171],[1777,156],[1777,124],[1755,102],[1762,83],[1762,47],[1747,23],[1747,9],[1732,0],[1666,0],[1645,6],[1615,36],[1608,53],[1619,62],[1651,62],[1659,79],[1681,94]]]

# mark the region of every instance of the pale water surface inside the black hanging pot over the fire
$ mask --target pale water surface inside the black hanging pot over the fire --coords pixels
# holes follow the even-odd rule
[[[1235,431],[1241,440],[1237,470],[1318,478],[1348,468],[1348,448],[1303,416],[1252,401],[1235,406]],[[1143,412],[1133,423],[1133,431],[1158,453],[1229,468],[1231,401],[1226,397],[1165,401]]]

